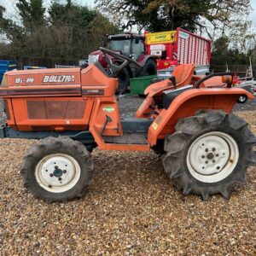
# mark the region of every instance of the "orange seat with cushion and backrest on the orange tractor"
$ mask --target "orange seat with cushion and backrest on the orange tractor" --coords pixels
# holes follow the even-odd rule
[[[187,84],[191,84],[191,79],[195,70],[195,64],[183,64],[175,67],[172,77],[175,78],[176,87],[182,87]],[[149,92],[157,92],[164,90],[166,87],[172,86],[170,79],[160,81],[155,84],[151,84],[144,91],[144,94],[147,95]]]

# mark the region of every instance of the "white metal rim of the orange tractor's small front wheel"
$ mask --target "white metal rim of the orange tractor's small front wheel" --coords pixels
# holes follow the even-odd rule
[[[36,166],[35,177],[40,187],[62,193],[79,181],[81,169],[77,160],[67,154],[49,154]]]

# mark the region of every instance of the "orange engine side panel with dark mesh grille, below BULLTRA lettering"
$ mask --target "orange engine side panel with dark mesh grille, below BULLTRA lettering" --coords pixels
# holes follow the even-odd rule
[[[86,97],[31,97],[13,98],[15,124],[20,131],[87,130],[93,98]]]

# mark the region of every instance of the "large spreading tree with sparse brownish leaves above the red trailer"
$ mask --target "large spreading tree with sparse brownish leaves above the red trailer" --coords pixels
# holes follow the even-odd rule
[[[235,22],[246,22],[250,0],[96,0],[124,29],[138,25],[151,32],[176,29],[224,35]]]

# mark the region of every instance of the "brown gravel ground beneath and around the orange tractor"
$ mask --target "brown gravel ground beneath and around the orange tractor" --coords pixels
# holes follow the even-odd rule
[[[141,101],[121,98],[121,113],[131,116]],[[255,111],[237,114],[256,133]],[[20,178],[22,155],[34,142],[1,140],[0,255],[256,255],[255,167],[230,200],[204,202],[178,192],[153,152],[96,149],[90,193],[47,204]]]

